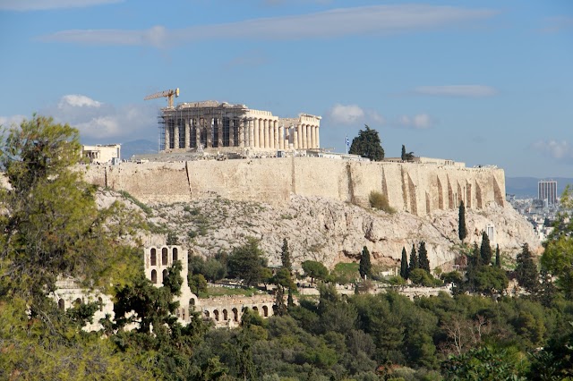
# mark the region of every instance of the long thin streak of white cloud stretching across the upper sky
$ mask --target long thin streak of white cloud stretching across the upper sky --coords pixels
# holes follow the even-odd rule
[[[63,30],[43,41],[98,45],[170,47],[192,41],[227,38],[304,39],[381,35],[432,30],[488,19],[497,11],[426,4],[374,5],[338,8],[319,13],[269,17],[218,25],[167,30]]]

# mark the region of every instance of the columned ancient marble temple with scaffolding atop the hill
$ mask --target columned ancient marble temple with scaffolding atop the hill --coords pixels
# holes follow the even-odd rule
[[[253,150],[318,149],[321,116],[279,118],[245,105],[202,101],[161,109],[159,150],[193,148]]]

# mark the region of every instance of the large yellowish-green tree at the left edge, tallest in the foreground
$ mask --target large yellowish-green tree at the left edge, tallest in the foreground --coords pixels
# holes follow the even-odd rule
[[[136,252],[120,237],[133,237],[141,217],[119,202],[98,209],[96,187],[73,170],[80,158],[78,131],[34,115],[5,131],[0,167],[10,183],[0,189],[0,294],[21,294],[35,304],[55,289],[58,275],[90,285],[134,276],[126,266]]]

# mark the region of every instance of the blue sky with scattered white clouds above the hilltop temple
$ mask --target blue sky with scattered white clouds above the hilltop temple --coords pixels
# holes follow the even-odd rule
[[[0,0],[0,124],[34,113],[84,144],[158,140],[158,109],[218,100],[321,115],[337,152],[573,177],[573,2]]]

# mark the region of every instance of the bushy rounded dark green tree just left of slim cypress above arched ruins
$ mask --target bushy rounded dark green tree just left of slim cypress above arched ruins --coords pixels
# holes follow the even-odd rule
[[[265,275],[266,258],[259,249],[259,240],[247,237],[243,246],[235,248],[228,257],[229,275],[243,279],[246,285],[256,285]]]

